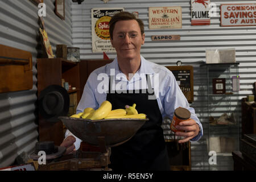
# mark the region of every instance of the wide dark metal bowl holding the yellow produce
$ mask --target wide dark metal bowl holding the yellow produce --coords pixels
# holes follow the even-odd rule
[[[98,137],[105,137],[105,145],[118,146],[127,142],[149,119],[118,118],[90,120],[59,117],[69,131],[82,141],[99,146]]]

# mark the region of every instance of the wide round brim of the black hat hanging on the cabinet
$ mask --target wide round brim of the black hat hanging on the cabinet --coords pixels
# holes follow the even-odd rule
[[[43,98],[47,96],[48,93],[51,92],[58,92],[61,94],[61,97],[63,98],[63,107],[60,111],[57,111],[57,113],[48,114],[46,110],[43,107]],[[38,104],[39,104],[39,113],[42,115],[44,119],[46,119],[49,122],[58,122],[58,117],[60,116],[67,116],[69,111],[69,94],[66,89],[64,89],[60,85],[49,85],[47,88],[42,90],[40,93],[40,96],[38,98]]]

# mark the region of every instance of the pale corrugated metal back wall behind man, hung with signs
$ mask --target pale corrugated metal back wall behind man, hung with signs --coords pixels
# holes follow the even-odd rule
[[[210,18],[210,26],[191,26],[191,1],[190,0],[110,0],[103,1],[85,0],[82,5],[72,5],[73,46],[81,48],[81,59],[102,59],[102,53],[92,53],[91,9],[96,7],[124,7],[126,11],[138,11],[145,25],[146,42],[142,46],[141,54],[154,63],[161,65],[175,65],[181,60],[183,65],[194,67],[194,102],[192,106],[199,115],[204,126],[204,137],[199,142],[192,143],[192,169],[209,169],[207,136],[208,122],[205,121],[207,111],[202,110],[205,96],[200,96],[200,63],[205,61],[205,49],[207,48],[236,48],[236,61],[240,63],[241,90],[236,94],[239,98],[253,94],[253,82],[256,81],[256,27],[220,27],[220,5],[226,3],[256,3],[256,1],[220,1],[211,0],[216,4],[217,16]],[[182,29],[149,30],[148,7],[181,6]],[[180,41],[152,42],[151,35],[180,35]],[[114,59],[115,53],[108,53],[110,59]],[[236,97],[235,96],[235,97]],[[232,98],[233,100],[233,98]],[[238,119],[241,118],[240,102],[230,102],[237,109]],[[204,106],[203,106],[204,107]],[[203,111],[203,113],[202,113]],[[218,110],[220,113],[224,109]],[[225,161],[219,157],[221,168],[232,169],[232,159]],[[214,169],[214,168],[213,168]]]

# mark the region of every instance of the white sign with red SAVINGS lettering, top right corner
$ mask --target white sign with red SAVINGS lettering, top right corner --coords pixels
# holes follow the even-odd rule
[[[221,26],[256,26],[256,4],[221,5]]]

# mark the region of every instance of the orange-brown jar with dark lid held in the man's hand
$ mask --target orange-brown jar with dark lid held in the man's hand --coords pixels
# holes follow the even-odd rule
[[[174,111],[174,117],[172,118],[170,129],[176,133],[177,131],[184,132],[183,130],[177,130],[176,126],[179,125],[181,121],[185,121],[189,119],[191,116],[191,113],[188,109],[185,109],[184,107],[177,107]]]

